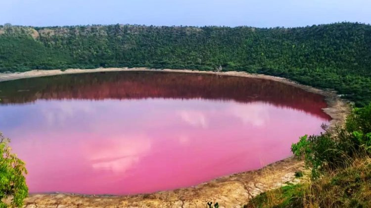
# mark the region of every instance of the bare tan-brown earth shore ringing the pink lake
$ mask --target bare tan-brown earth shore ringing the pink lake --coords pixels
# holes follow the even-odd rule
[[[21,73],[0,73],[0,81],[50,76],[58,74],[87,73],[102,71],[158,71],[159,69],[146,68],[99,68],[99,69],[67,69],[32,70]],[[249,74],[246,72],[213,72],[179,69],[162,69],[161,71],[209,73],[218,75],[242,76],[259,79],[269,79],[292,85],[303,90],[325,96],[327,107],[323,110],[332,120],[330,128],[342,125],[351,110],[348,102],[340,99],[336,92],[316,89],[298,84],[285,78]],[[73,207],[105,207],[105,208],[205,208],[207,202],[218,202],[220,208],[240,208],[251,197],[270,189],[275,189],[286,183],[298,183],[295,173],[304,170],[303,162],[294,157],[278,161],[262,169],[244,173],[236,173],[220,177],[194,187],[181,188],[171,191],[161,191],[152,194],[139,194],[133,196],[94,196],[67,193],[32,194],[25,200],[26,208],[73,208]],[[264,167],[265,166],[265,167]],[[264,167],[264,168],[263,168]]]

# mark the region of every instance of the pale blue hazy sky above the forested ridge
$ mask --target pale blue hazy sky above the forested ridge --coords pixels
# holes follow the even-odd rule
[[[371,23],[371,0],[0,0],[0,24],[295,27]]]

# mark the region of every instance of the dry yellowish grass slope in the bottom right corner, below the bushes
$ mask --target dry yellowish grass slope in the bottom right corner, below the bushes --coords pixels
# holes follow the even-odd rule
[[[355,159],[346,168],[316,181],[287,185],[263,193],[245,208],[370,208],[371,158]]]

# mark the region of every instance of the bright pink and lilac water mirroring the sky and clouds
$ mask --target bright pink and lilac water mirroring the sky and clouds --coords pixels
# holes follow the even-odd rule
[[[293,141],[318,133],[324,122],[262,102],[202,99],[41,100],[1,106],[0,114],[13,121],[0,119],[0,126],[26,161],[31,193],[195,185],[287,157]]]

